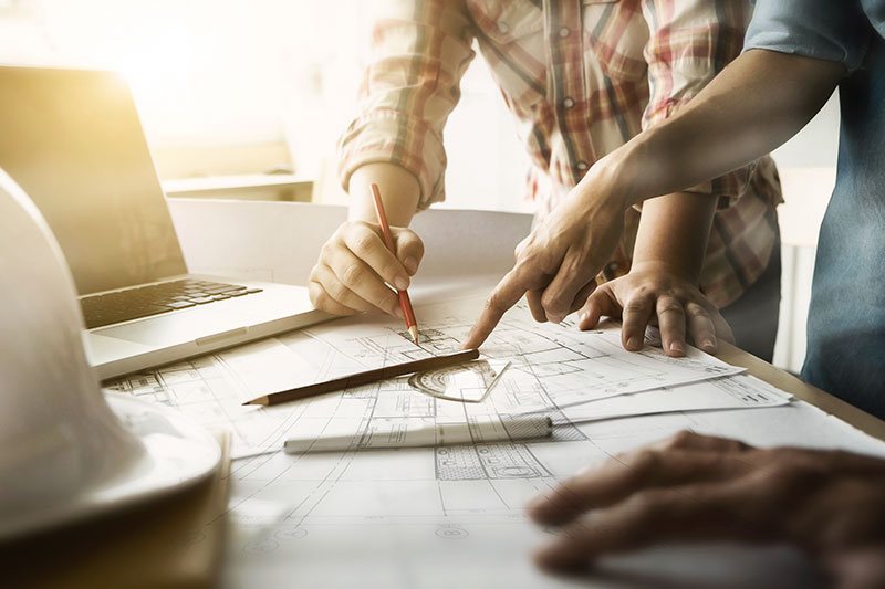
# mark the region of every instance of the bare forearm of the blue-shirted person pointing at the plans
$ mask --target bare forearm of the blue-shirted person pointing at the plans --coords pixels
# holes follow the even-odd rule
[[[749,51],[678,115],[602,159],[595,175],[612,177],[631,206],[728,173],[798,133],[844,73],[836,62]]]

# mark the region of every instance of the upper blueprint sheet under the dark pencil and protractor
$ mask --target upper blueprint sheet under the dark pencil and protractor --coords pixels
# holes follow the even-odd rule
[[[470,327],[457,317],[472,316],[480,304],[468,298],[420,307],[424,327],[417,346],[402,323],[347,318],[129,377],[111,388],[176,407],[207,427],[232,430],[236,457],[279,450],[295,433],[360,435],[379,419],[399,420],[405,428],[409,420],[415,427],[428,420],[462,421],[479,432],[482,423],[541,412],[559,425],[556,439],[575,437],[561,408],[574,410],[582,403],[742,371],[695,348],[675,360],[653,346],[654,337],[643,351],[628,353],[616,326],[582,333],[568,323],[540,325],[528,309],[517,307],[481,350],[483,361],[502,372],[500,378],[488,396],[464,393],[482,402],[440,398],[436,391],[451,372],[444,369],[280,406],[242,407],[259,395],[457,350]],[[736,400],[721,391],[714,397],[718,404],[691,404],[683,396],[674,409],[659,402],[646,412],[771,404]],[[634,401],[643,404],[643,398]],[[624,411],[635,414],[636,409]],[[615,416],[610,411],[605,417]]]

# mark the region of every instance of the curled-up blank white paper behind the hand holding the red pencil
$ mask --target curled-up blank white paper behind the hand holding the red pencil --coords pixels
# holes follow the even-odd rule
[[[191,272],[302,286],[320,249],[347,219],[345,207],[299,202],[169,199],[169,210]],[[412,225],[426,251],[417,282],[441,278],[437,285],[445,287],[469,276],[500,276],[531,223],[532,217],[521,213],[421,212]]]

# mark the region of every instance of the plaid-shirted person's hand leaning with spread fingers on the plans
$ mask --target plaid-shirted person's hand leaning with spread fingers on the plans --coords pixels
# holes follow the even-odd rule
[[[624,348],[642,349],[645,328],[657,323],[667,356],[685,356],[686,335],[715,354],[717,338],[735,341],[726,319],[691,280],[662,262],[635,262],[625,276],[598,286],[587,298],[577,326],[593,329],[600,318],[622,319]]]

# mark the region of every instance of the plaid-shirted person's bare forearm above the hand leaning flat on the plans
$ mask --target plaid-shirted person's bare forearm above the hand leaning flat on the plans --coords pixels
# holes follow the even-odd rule
[[[716,199],[695,192],[676,192],[645,201],[633,267],[664,266],[697,284],[715,213]]]

